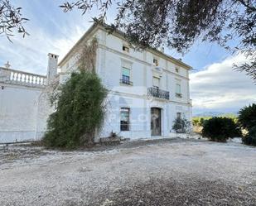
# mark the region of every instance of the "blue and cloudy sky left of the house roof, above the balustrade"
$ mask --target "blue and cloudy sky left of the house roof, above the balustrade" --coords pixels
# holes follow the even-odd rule
[[[80,12],[64,13],[60,1],[13,1],[22,7],[24,17],[30,19],[24,26],[30,36],[14,32],[13,43],[0,36],[0,66],[7,60],[12,69],[20,69],[37,74],[46,74],[47,54],[60,55],[60,59],[91,25],[89,15]]]

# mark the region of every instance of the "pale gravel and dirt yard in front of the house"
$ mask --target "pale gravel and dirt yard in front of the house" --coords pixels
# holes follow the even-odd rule
[[[0,205],[256,205],[256,147],[132,141],[90,151],[0,151]]]

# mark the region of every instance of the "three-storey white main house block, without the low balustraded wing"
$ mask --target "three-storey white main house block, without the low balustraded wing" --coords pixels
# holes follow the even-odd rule
[[[191,66],[162,51],[133,50],[122,32],[94,24],[60,61],[60,79],[77,69],[76,48],[94,37],[98,41],[95,71],[109,90],[108,114],[97,137],[174,137],[177,116],[191,120]],[[61,80],[60,80],[61,81]]]

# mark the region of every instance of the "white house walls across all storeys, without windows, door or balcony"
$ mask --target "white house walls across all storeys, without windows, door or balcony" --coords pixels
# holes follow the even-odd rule
[[[172,123],[176,113],[183,113],[191,120],[191,105],[189,93],[188,71],[181,65],[167,60],[159,54],[149,50],[137,51],[130,49],[123,51],[127,43],[117,36],[107,35],[106,31],[99,29],[94,36],[98,38],[96,72],[103,84],[109,89],[108,113],[104,127],[99,132],[99,137],[109,137],[110,132],[128,138],[151,137],[151,108],[162,108],[162,137],[171,136]],[[147,88],[152,87],[152,76],[156,72],[153,58],[157,58],[162,69],[160,89],[170,92],[170,100],[162,100],[147,96]],[[122,76],[122,62],[132,65],[131,81],[133,86],[120,84]],[[62,72],[75,69],[75,57],[70,57],[61,67]],[[176,67],[179,72],[176,72]],[[181,84],[182,98],[176,98],[176,81]],[[120,132],[120,108],[130,108],[131,130]],[[140,121],[144,115],[146,120]],[[99,139],[98,139],[99,140]]]

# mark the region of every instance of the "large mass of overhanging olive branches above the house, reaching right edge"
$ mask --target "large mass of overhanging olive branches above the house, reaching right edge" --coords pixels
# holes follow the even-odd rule
[[[118,7],[113,27],[125,31],[130,43],[165,45],[184,54],[195,41],[217,42],[248,56],[250,63],[236,69],[256,81],[256,0],[78,0],[60,7],[83,14],[99,8],[99,19],[104,20],[111,6]],[[239,40],[237,45],[234,39]]]

